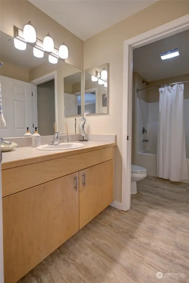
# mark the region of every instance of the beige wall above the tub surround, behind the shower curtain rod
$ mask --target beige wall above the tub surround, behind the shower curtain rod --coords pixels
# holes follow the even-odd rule
[[[189,74],[171,78],[164,78],[158,81],[151,81],[148,87],[162,86],[164,84],[177,83],[180,81],[189,81]],[[147,102],[159,102],[159,88],[157,87],[154,89],[148,89],[147,96]],[[184,98],[189,98],[189,83],[184,84]]]

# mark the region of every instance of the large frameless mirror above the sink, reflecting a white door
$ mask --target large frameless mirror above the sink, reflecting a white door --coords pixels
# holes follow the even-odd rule
[[[49,54],[34,56],[33,47],[14,46],[14,38],[0,33],[3,138],[22,137],[38,127],[40,135],[53,135],[53,123],[65,132],[65,117],[82,114],[82,71],[62,60],[49,62]],[[74,130],[74,128],[73,128]],[[74,132],[74,131],[73,131]],[[70,132],[72,133],[72,132]]]

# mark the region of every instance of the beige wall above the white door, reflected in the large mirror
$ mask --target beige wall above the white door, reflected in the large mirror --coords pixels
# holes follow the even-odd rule
[[[14,78],[19,81],[29,82],[29,70],[17,65],[10,64],[3,60],[3,68],[0,68],[0,75],[8,78]]]

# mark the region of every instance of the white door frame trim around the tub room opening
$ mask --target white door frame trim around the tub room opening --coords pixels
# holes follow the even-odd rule
[[[131,207],[133,49],[189,29],[189,14],[124,42],[122,210]],[[127,123],[125,123],[127,121]]]

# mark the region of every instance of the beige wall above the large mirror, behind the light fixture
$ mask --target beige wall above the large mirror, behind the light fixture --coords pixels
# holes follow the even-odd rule
[[[69,50],[69,63],[83,70],[83,41],[69,32],[55,20],[26,0],[1,0],[0,29],[14,36],[13,26],[24,28],[30,20],[35,27],[37,37],[41,40],[49,32],[53,37],[55,48],[64,41]]]

